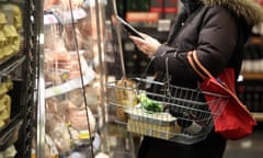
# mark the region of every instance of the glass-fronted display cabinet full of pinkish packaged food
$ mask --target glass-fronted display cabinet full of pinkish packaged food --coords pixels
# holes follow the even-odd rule
[[[39,4],[37,127],[33,156],[114,157],[105,82],[121,75],[115,1]],[[116,36],[117,35],[117,36]],[[121,40],[121,38],[119,38]],[[116,136],[114,136],[116,137]],[[126,138],[124,138],[126,139]]]

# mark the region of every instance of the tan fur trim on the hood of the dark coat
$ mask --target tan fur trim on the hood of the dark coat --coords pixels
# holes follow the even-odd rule
[[[238,16],[243,16],[248,24],[256,25],[263,22],[263,7],[253,0],[199,0],[205,5],[224,5]]]

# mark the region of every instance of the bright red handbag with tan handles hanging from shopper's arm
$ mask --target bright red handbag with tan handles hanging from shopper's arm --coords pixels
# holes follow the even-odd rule
[[[253,132],[256,125],[255,120],[251,115],[247,106],[239,100],[235,91],[235,70],[226,68],[217,78],[201,64],[196,55],[196,50],[187,54],[187,60],[191,67],[203,79],[198,82],[202,91],[208,91],[227,95],[225,100],[218,104],[222,106],[219,116],[214,116],[215,132],[228,139],[240,139]],[[209,110],[215,112],[217,108],[210,102],[213,98],[204,93]]]

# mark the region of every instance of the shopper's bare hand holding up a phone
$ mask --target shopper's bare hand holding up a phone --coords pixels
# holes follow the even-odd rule
[[[144,38],[130,35],[129,38],[136,44],[136,46],[147,56],[151,57],[156,54],[158,47],[161,45],[156,38],[139,33]]]

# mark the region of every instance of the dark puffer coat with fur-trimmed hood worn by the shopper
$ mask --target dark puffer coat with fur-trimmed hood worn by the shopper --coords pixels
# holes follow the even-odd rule
[[[243,44],[251,27],[262,21],[260,5],[251,0],[199,1],[198,7],[190,9],[191,15],[182,10],[168,43],[159,47],[155,56],[156,71],[165,71],[164,63],[169,58],[169,71],[176,82],[199,79],[186,61],[187,52],[193,49],[197,49],[202,64],[213,75],[220,74],[226,66],[233,67],[238,75]]]

